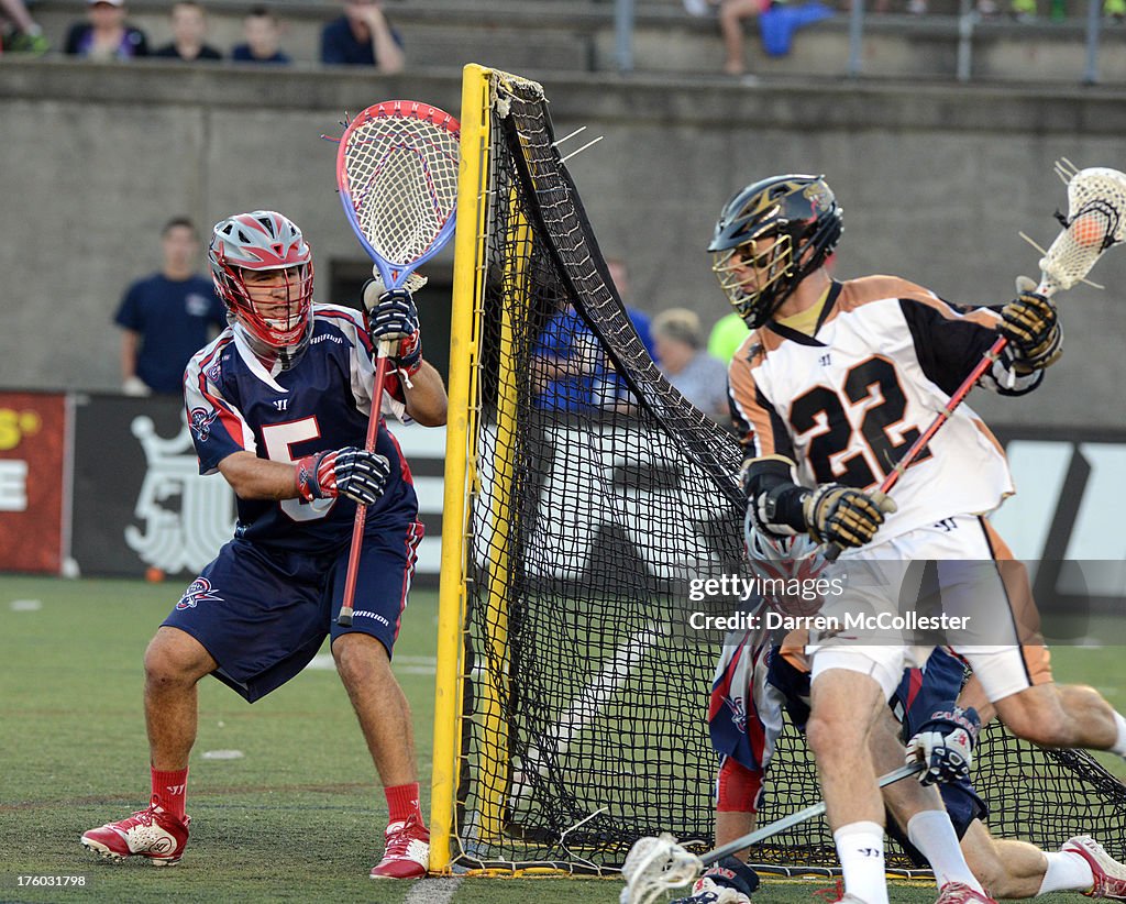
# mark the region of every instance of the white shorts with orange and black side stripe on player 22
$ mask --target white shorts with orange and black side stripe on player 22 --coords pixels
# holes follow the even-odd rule
[[[886,698],[903,669],[946,645],[990,700],[1049,683],[1025,566],[983,518],[957,516],[841,556],[807,652],[813,679],[830,669],[869,674]]]

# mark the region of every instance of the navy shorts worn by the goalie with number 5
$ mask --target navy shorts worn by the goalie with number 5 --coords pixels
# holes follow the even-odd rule
[[[421,539],[413,519],[365,535],[348,628],[337,624],[347,548],[304,555],[240,539],[220,549],[162,624],[199,641],[218,663],[213,674],[253,702],[304,669],[328,635],[369,634],[390,657]]]

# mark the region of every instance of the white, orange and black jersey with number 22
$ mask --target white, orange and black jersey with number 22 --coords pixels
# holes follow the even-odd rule
[[[875,489],[997,339],[999,323],[989,308],[954,307],[897,277],[833,283],[812,337],[772,323],[732,359],[731,409],[747,456],[790,458],[805,486]],[[1012,492],[1000,444],[962,404],[896,484],[899,511],[879,537],[992,511]]]

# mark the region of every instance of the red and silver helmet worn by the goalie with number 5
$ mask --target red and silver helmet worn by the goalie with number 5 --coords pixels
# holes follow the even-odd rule
[[[215,224],[207,257],[215,290],[250,347],[259,355],[276,357],[283,369],[292,367],[309,347],[313,331],[313,252],[297,225],[274,211],[227,217]],[[291,278],[294,269],[296,277]],[[285,289],[284,298],[279,292],[268,313],[256,306],[247,287],[247,270],[285,271],[278,287]]]

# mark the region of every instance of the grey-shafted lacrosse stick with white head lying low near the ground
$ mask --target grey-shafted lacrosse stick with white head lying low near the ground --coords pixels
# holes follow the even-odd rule
[[[881,788],[885,788],[921,772],[922,769],[922,763],[901,766],[899,769],[893,769],[881,776],[878,785]],[[771,835],[820,816],[824,812],[825,802],[819,800],[805,809],[799,809],[742,838],[736,838],[734,841],[709,851],[704,857],[697,857],[691,851],[680,847],[670,834],[638,839],[629,849],[626,861],[622,866],[622,876],[626,880],[626,887],[622,889],[618,899],[620,904],[651,904],[664,892],[688,885],[704,871],[705,867],[718,862],[724,857],[731,857],[743,848],[758,844]]]

